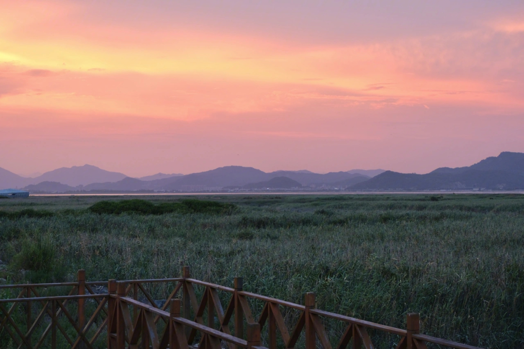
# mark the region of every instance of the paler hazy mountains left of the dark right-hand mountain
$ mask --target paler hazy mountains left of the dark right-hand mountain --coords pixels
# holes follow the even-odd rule
[[[365,172],[364,170],[362,172]],[[24,188],[32,193],[65,193],[65,192],[136,192],[146,191],[195,191],[221,190],[222,188],[246,189],[246,185],[269,182],[269,185],[280,185],[289,181],[298,183],[291,187],[334,188],[366,181],[371,175],[384,170],[369,170],[370,175],[348,172],[313,173],[308,170],[275,171],[266,173],[253,167],[225,166],[211,171],[182,174],[158,173],[140,178],[128,177],[123,173],[102,170],[92,165],[62,167],[46,172],[35,178],[22,177],[0,168],[0,188]],[[276,177],[285,177],[280,181],[270,182]],[[260,184],[261,187],[267,184]],[[289,188],[291,188],[289,187]]]

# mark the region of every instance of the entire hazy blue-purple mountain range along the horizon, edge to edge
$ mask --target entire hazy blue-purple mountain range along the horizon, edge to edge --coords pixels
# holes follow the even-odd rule
[[[253,167],[225,166],[181,174],[158,173],[140,178],[92,165],[62,167],[35,178],[0,168],[0,188],[32,193],[64,192],[193,192],[220,190],[514,190],[524,189],[524,153],[503,152],[465,167],[440,167],[427,174],[384,170],[313,173],[308,170],[264,172]]]

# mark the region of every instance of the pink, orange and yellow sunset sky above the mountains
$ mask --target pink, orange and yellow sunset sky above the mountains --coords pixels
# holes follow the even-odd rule
[[[524,2],[0,0],[0,167],[426,173],[524,152]]]

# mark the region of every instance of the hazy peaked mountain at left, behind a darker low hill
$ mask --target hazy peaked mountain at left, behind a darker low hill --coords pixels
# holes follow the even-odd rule
[[[93,165],[61,167],[32,178],[31,184],[60,182],[70,186],[88,185],[96,182],[116,182],[127,177],[123,173],[110,172]]]

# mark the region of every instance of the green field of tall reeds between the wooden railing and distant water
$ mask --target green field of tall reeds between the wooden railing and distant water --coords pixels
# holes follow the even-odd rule
[[[139,198],[149,204],[0,200],[0,277],[165,278],[190,265],[216,284],[243,276],[244,289],[297,303],[316,292],[321,309],[400,328],[419,312],[425,334],[524,347],[522,195]]]

